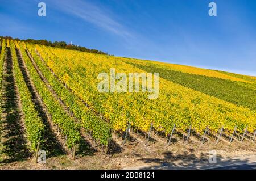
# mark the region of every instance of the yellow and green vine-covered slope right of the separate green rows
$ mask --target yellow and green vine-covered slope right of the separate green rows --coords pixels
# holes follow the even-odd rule
[[[222,126],[239,132],[248,125],[255,130],[255,81],[253,77],[221,73],[183,65],[134,60],[75,52],[59,48],[28,45],[36,49],[49,68],[74,94],[110,120],[113,129],[124,131],[130,121],[135,129],[170,133],[172,125],[184,132],[192,124],[203,133],[206,127],[217,132]],[[147,99],[148,93],[109,93],[97,91],[97,75],[110,73],[158,72],[159,97]]]

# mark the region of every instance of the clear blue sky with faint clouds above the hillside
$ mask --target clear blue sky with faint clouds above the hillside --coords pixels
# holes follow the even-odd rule
[[[255,0],[1,0],[0,35],[256,75]]]

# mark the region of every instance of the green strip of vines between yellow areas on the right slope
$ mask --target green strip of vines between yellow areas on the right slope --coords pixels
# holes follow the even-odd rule
[[[160,72],[159,76],[168,81],[178,83],[185,87],[226,100],[227,102],[234,103],[239,106],[250,108],[251,110],[256,110],[256,91],[245,86],[238,85],[237,82],[158,68],[151,64],[144,66],[133,62],[127,63],[144,71]],[[243,85],[250,84],[243,83]]]

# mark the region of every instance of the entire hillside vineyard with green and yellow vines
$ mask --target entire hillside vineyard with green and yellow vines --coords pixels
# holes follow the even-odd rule
[[[158,98],[148,99],[148,92],[98,92],[98,74],[111,68],[125,74],[159,73]],[[4,130],[11,127],[4,120],[11,113],[20,120],[24,145],[36,162],[40,149],[51,152],[52,142],[72,159],[90,152],[86,142],[106,157],[115,148],[125,150],[130,137],[141,137],[145,147],[152,140],[171,147],[174,134],[184,147],[189,139],[199,145],[236,140],[254,146],[255,77],[5,39],[0,73],[0,162],[11,153],[3,146],[9,139]],[[7,74],[14,77],[15,113],[3,101],[13,99],[3,94],[9,90]]]

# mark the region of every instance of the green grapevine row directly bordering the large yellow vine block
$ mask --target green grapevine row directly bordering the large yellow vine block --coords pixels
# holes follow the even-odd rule
[[[81,120],[82,127],[92,131],[92,136],[95,140],[100,141],[101,144],[108,144],[108,139],[111,138],[111,131],[109,123],[101,120],[100,117],[94,115],[92,110],[89,110],[84,103],[77,98],[71,91],[69,91],[63,83],[61,83],[48,69],[35,50],[30,44],[27,44],[27,49],[31,53],[36,65],[47,79],[48,83],[55,90],[56,94],[64,101],[67,107],[74,113],[75,117]]]

